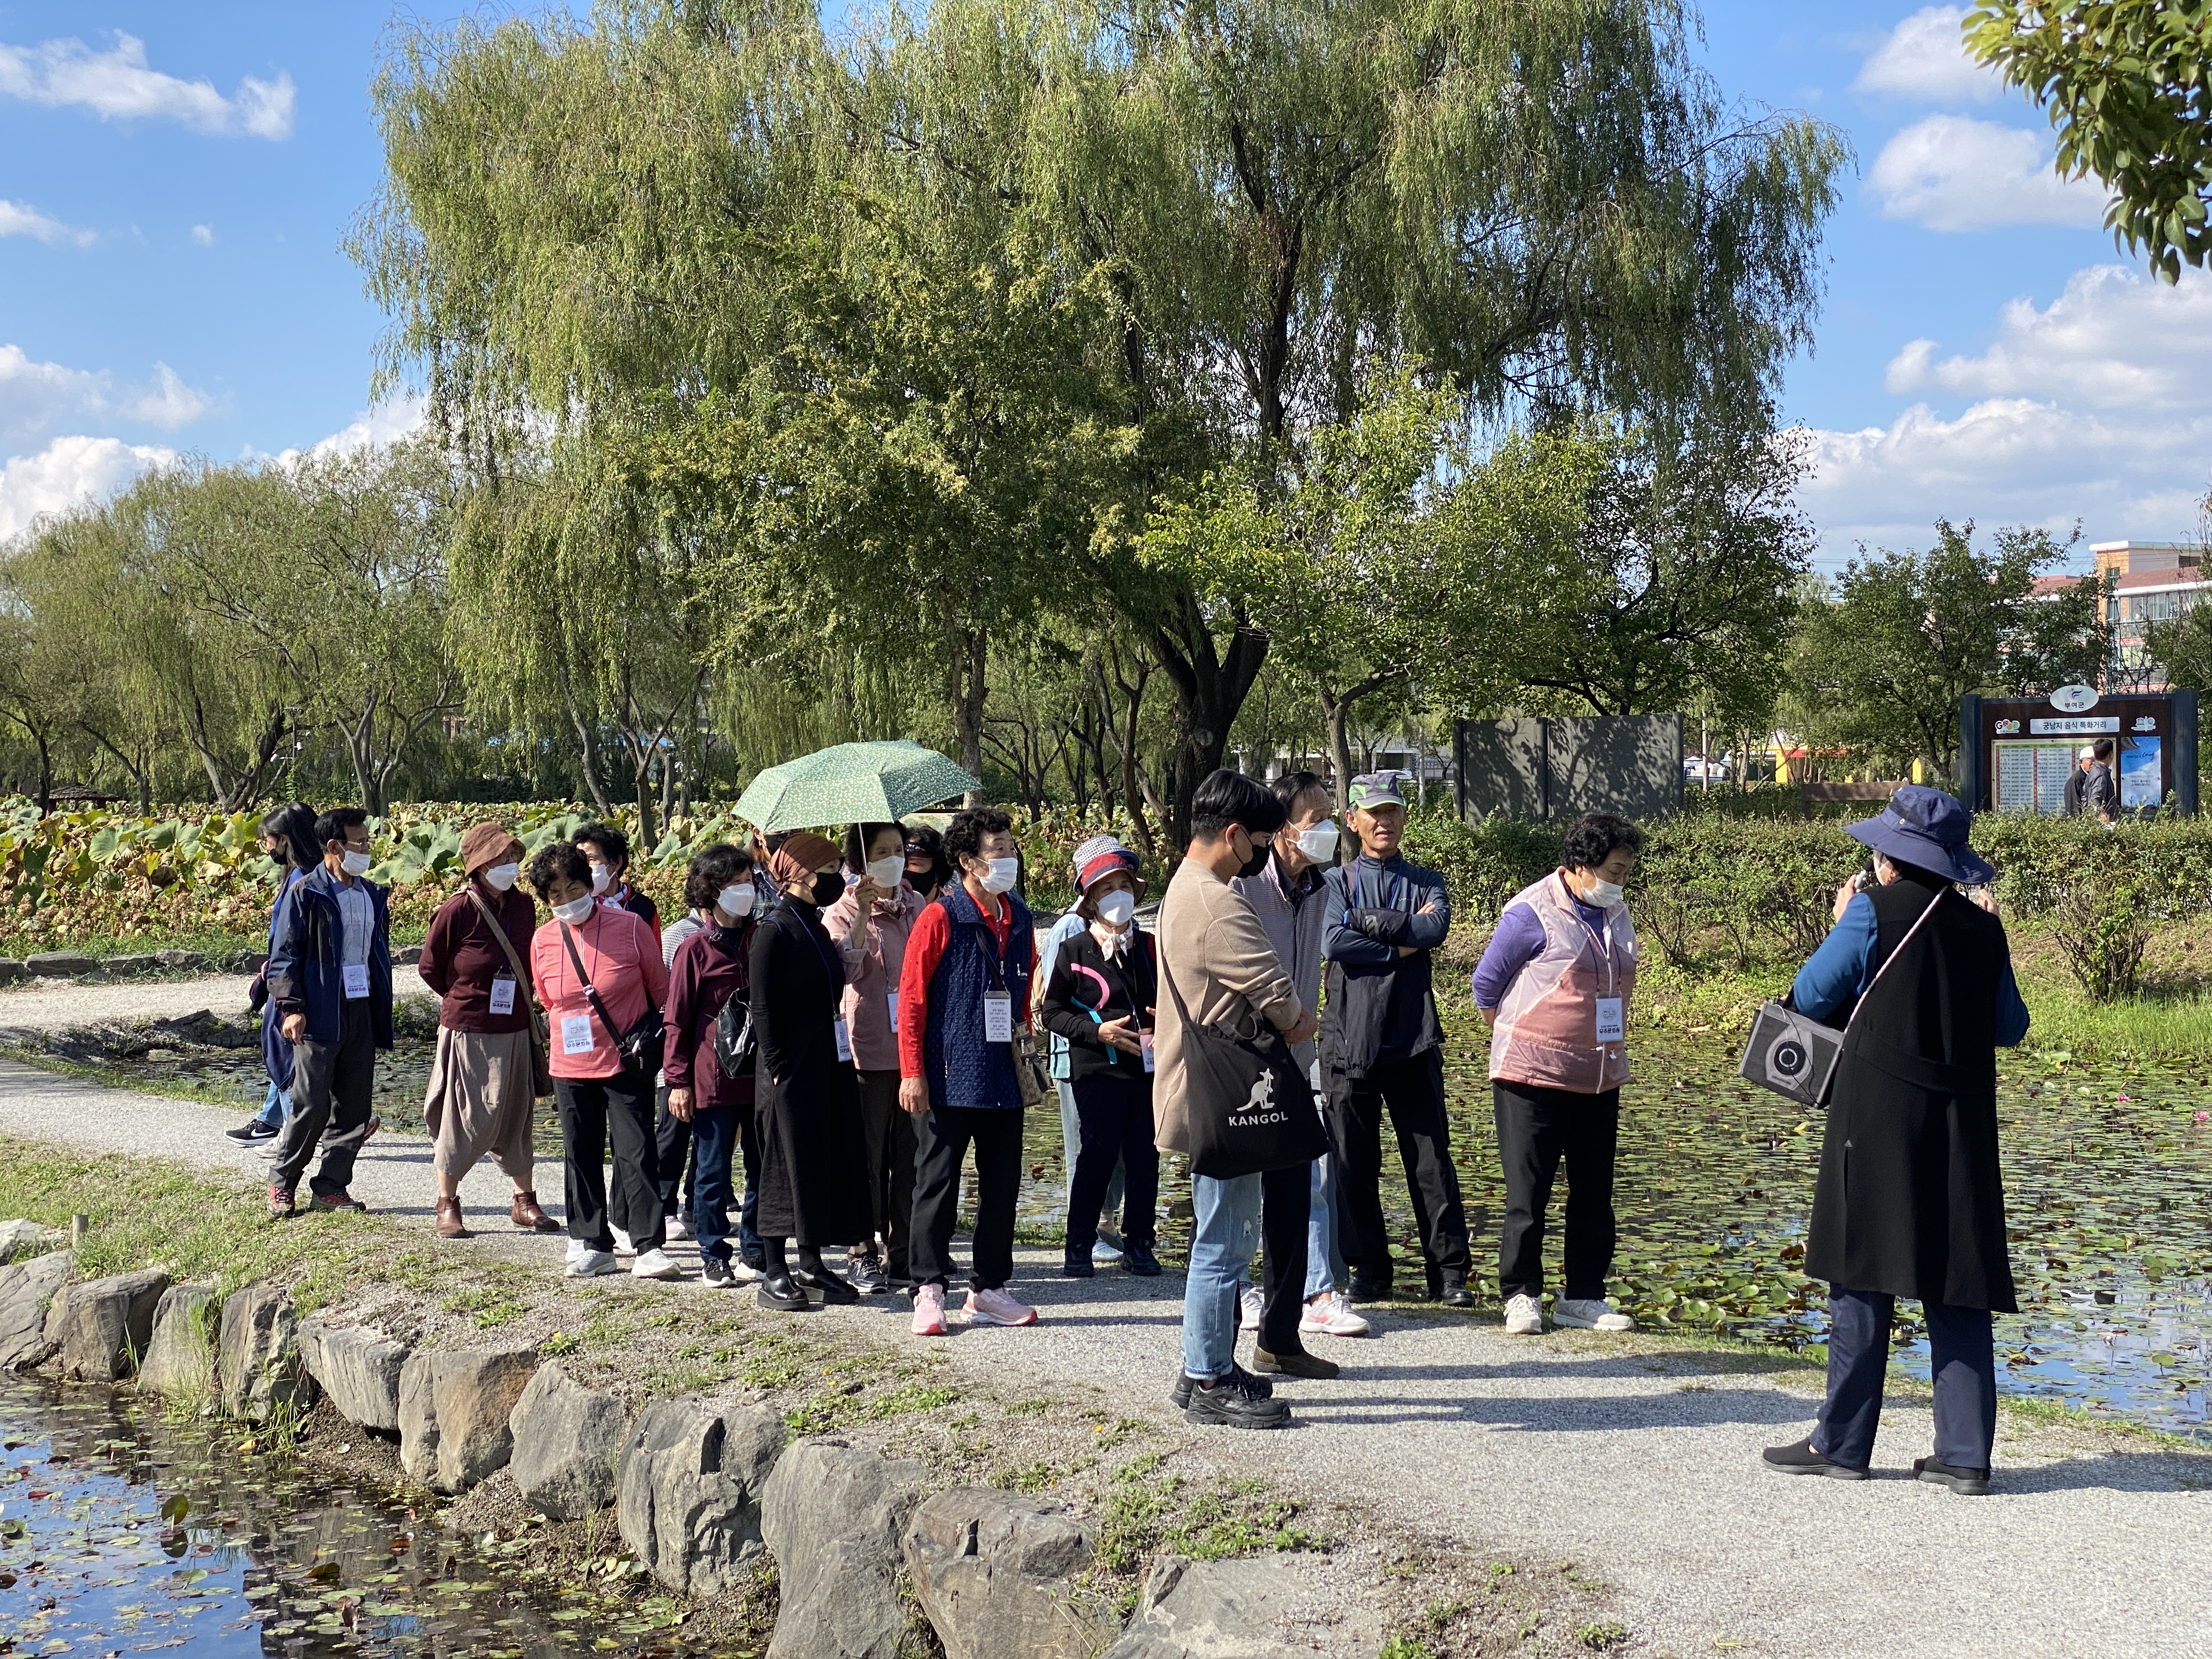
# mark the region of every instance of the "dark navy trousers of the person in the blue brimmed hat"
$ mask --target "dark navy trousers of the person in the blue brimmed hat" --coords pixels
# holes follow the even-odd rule
[[[1889,1378],[1889,1321],[1898,1298],[1880,1290],[1827,1287],[1827,1400],[1812,1444],[1865,1469],[1882,1425]],[[1936,1378],[1936,1460],[1989,1469],[1997,1442],[1997,1354],[1986,1307],[1920,1303],[1929,1321],[1929,1371]]]

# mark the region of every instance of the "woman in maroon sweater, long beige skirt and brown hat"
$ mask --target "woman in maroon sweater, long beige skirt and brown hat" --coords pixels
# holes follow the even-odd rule
[[[522,843],[504,823],[478,823],[460,838],[465,885],[431,916],[416,971],[438,993],[438,1057],[422,1121],[438,1177],[438,1237],[467,1239],[460,1179],[482,1159],[513,1181],[509,1219],[522,1232],[560,1232],[538,1206],[531,1135],[538,1057],[535,1013],[522,951],[538,905],[518,885]]]

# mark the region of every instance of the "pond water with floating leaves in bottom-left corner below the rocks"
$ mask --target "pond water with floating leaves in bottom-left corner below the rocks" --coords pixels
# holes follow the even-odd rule
[[[460,1540],[239,1427],[0,1378],[0,1652],[679,1652],[675,1604],[529,1582],[529,1540]]]

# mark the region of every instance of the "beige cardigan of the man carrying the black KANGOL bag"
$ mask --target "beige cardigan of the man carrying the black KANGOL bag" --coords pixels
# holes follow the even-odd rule
[[[1197,1024],[1217,1026],[1232,1037],[1259,1035],[1261,1020],[1290,1031],[1305,1018],[1305,1004],[1252,902],[1197,858],[1183,858],[1175,867],[1159,905],[1159,967],[1152,1139],[1168,1152],[1188,1152],[1183,1020],[1168,995],[1168,975]]]

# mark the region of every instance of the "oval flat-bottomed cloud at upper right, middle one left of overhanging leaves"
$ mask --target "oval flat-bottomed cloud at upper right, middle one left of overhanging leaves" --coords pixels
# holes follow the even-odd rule
[[[2062,179],[2046,135],[1964,115],[1907,126],[1874,157],[1867,186],[1885,219],[1929,230],[2104,223],[2104,190]]]

